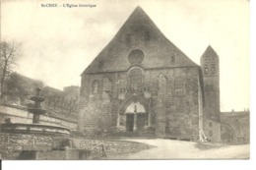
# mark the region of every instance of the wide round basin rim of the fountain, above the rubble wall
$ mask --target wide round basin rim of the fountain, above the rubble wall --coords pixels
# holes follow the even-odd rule
[[[15,134],[70,135],[70,129],[41,124],[2,124],[1,131]]]

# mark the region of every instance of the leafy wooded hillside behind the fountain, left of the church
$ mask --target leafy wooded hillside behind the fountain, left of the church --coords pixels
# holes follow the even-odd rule
[[[62,116],[63,118],[77,119],[79,91],[78,86],[70,86],[64,90],[59,90],[50,86],[44,86],[42,82],[27,78],[18,73],[12,73],[5,81],[3,95],[5,103],[18,105],[32,105],[30,97],[36,94],[35,88],[42,88],[40,95],[45,98],[41,103],[42,107],[47,110],[47,114]],[[16,98],[16,100],[14,99]],[[17,98],[18,103],[17,103]]]

